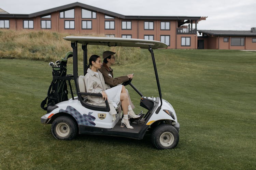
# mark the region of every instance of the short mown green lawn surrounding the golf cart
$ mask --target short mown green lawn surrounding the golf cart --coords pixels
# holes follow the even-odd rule
[[[114,66],[134,73],[145,96],[158,96],[150,53]],[[181,125],[175,149],[142,140],[79,135],[60,141],[43,125],[40,102],[51,82],[43,61],[0,60],[0,169],[255,169],[256,53],[232,50],[155,50],[162,97]],[[147,55],[147,57],[146,57]],[[68,65],[71,73],[72,66]],[[80,67],[80,71],[82,68]],[[128,87],[141,110],[139,95]]]

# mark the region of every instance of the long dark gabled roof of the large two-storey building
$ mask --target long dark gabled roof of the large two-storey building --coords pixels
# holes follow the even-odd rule
[[[107,10],[103,10],[101,8],[97,8],[94,6],[90,6],[90,5],[86,5],[80,2],[75,2],[75,3],[71,3],[71,4],[67,4],[67,5],[63,5],[63,6],[59,6],[59,7],[55,7],[55,8],[51,8],[48,10],[44,10],[44,11],[40,11],[40,12],[36,12],[36,13],[32,13],[32,14],[0,14],[0,18],[2,17],[6,17],[6,18],[33,18],[33,17],[37,17],[37,16],[44,16],[44,15],[49,15],[52,12],[57,12],[57,11],[64,11],[64,10],[69,10],[71,8],[74,7],[82,7],[85,9],[88,9],[90,11],[94,11],[94,12],[101,12],[105,15],[111,16],[111,17],[118,17],[118,18],[122,18],[122,19],[160,19],[160,20],[202,20],[201,17],[189,17],[189,16],[125,16],[122,14],[118,14],[118,13],[114,13],[111,11],[107,11]],[[205,20],[205,18],[204,18]]]

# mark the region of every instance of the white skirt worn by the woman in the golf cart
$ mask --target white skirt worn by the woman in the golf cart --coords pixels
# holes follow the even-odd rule
[[[108,96],[108,101],[111,102],[115,108],[117,108],[120,102],[120,94],[122,91],[122,85],[118,85],[109,89],[106,89],[106,95]]]

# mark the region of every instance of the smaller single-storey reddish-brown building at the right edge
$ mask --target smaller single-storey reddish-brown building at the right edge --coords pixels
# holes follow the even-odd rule
[[[256,29],[250,31],[198,30],[198,49],[256,50]]]

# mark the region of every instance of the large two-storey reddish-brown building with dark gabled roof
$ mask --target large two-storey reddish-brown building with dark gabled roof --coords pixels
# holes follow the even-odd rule
[[[5,12],[5,11],[4,11]],[[0,28],[158,40],[171,49],[197,49],[197,24],[207,17],[125,16],[75,2],[33,14],[0,13]]]

